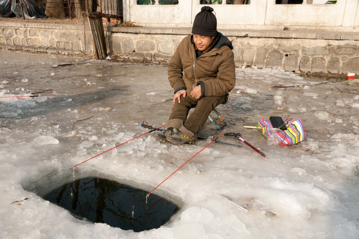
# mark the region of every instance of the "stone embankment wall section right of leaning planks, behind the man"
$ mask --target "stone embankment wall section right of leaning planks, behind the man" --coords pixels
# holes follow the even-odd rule
[[[131,59],[169,60],[186,35],[112,32],[111,53]],[[237,66],[272,68],[312,74],[359,73],[359,40],[234,37]]]

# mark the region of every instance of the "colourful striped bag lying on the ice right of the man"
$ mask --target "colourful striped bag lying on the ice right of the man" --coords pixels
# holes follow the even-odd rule
[[[266,130],[271,128],[273,128],[273,126],[270,121],[265,121],[263,118],[257,124],[257,129],[262,130],[263,135],[265,135]],[[282,145],[297,144],[306,138],[306,131],[303,129],[303,123],[300,119],[290,120],[287,124],[287,129],[283,130],[283,132],[285,139],[280,143]]]

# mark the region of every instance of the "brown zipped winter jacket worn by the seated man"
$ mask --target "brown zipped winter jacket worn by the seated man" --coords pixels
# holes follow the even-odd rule
[[[197,59],[191,36],[182,40],[167,67],[174,93],[186,89],[189,95],[199,81],[204,83],[204,96],[224,96],[233,89],[236,74],[232,43],[221,33],[219,36],[222,44],[216,44]]]

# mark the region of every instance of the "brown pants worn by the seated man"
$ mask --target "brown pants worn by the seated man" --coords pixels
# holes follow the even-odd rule
[[[178,103],[178,100],[176,100],[172,107],[167,127],[179,129],[191,137],[202,129],[212,110],[220,104],[225,104],[227,99],[227,96],[204,96],[196,100],[191,95],[187,94],[186,97],[181,95],[181,103]],[[191,108],[195,109],[188,116]]]

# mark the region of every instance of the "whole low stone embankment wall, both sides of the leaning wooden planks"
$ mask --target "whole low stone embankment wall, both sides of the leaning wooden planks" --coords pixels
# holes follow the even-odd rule
[[[223,30],[233,43],[236,65],[312,74],[359,74],[359,34],[340,32]],[[84,34],[86,33],[86,34]],[[108,28],[110,54],[168,61],[188,28]],[[0,47],[48,53],[93,52],[88,26],[0,22]]]

